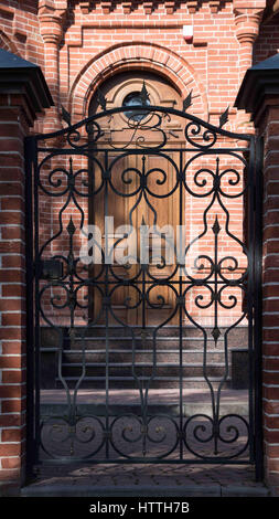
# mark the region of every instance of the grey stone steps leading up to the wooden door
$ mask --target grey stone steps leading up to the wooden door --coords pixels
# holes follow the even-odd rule
[[[49,330],[50,331],[50,330]],[[153,328],[142,330],[141,327],[131,330],[120,326],[114,326],[106,331],[104,326],[89,329],[76,328],[74,336],[69,338],[68,330],[62,330],[62,377],[68,388],[75,388],[83,374],[85,377],[81,388],[99,389],[106,386],[106,361],[108,360],[109,386],[133,389],[137,388],[136,375],[142,383],[148,383],[153,375],[152,388],[207,388],[205,374],[213,384],[218,386],[225,375],[225,348],[224,333],[217,341],[212,336],[212,329],[206,331],[206,370],[204,369],[205,341],[201,330],[196,328],[183,328],[183,337],[180,338],[178,327],[165,327],[157,330],[153,340]],[[85,337],[82,337],[84,333]],[[106,335],[108,337],[106,337]],[[230,339],[230,338],[229,338]],[[228,379],[225,386],[229,388],[230,352],[232,347],[243,345],[240,336],[228,340]],[[50,343],[44,342],[55,352],[57,363],[58,351],[57,337]],[[182,351],[181,351],[182,346]],[[155,369],[153,366],[153,350],[155,348]],[[49,350],[50,351],[50,350]],[[180,367],[180,361],[182,366]],[[132,369],[133,362],[133,369]],[[183,378],[183,382],[180,381]],[[55,372],[54,386],[63,386]]]

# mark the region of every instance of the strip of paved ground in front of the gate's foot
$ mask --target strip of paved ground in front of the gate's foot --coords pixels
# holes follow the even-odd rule
[[[268,496],[250,466],[99,465],[44,469],[26,496]]]

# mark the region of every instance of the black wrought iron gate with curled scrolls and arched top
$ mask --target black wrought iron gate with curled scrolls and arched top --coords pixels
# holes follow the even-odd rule
[[[260,142],[226,131],[226,113],[218,127],[191,115],[190,99],[184,112],[100,100],[86,120],[26,140],[29,463],[256,460],[259,473]],[[118,116],[125,144],[111,136]],[[97,242],[86,225],[111,216],[111,195],[130,227]],[[175,210],[174,239],[158,231],[158,203]],[[165,250],[152,262],[147,224]],[[148,256],[116,265],[132,226]],[[243,413],[226,400],[239,346]]]

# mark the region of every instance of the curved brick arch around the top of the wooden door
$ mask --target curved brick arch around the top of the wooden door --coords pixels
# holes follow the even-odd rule
[[[68,107],[73,121],[88,116],[92,96],[115,74],[131,70],[157,72],[180,91],[183,98],[193,91],[192,112],[207,118],[208,106],[205,88],[194,68],[178,54],[154,44],[129,43],[114,45],[90,60],[81,71],[69,93]]]

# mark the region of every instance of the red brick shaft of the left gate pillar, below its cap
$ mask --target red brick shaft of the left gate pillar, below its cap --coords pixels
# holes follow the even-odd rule
[[[24,151],[20,96],[0,98],[0,481],[22,477],[25,462]]]

